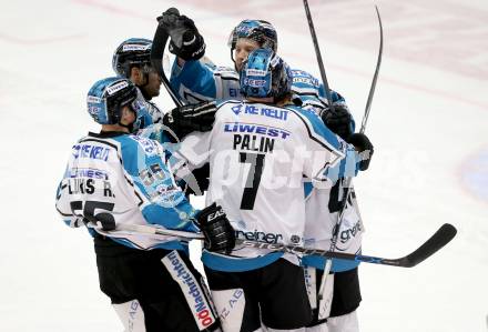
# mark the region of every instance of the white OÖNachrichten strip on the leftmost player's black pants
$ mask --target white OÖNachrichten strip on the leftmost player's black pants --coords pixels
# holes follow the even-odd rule
[[[212,325],[215,322],[212,309],[199,282],[186,266],[186,263],[181,259],[177,251],[173,250],[161,261],[183,291],[183,295],[189,303],[193,318],[199,325],[199,330],[202,331]]]

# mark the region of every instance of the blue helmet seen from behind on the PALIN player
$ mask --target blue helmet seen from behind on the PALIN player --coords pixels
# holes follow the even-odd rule
[[[256,49],[244,61],[240,83],[244,97],[281,100],[292,91],[292,71],[271,49]]]

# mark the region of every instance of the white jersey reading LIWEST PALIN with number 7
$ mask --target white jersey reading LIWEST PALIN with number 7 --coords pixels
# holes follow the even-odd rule
[[[303,178],[327,181],[325,170],[340,164],[347,148],[313,112],[226,101],[218,107],[212,131],[190,134],[174,155],[181,159],[179,169],[183,162],[210,162],[207,204],[222,205],[238,238],[303,245]],[[281,254],[271,259],[262,250],[236,248],[232,255],[254,260],[204,252],[203,261],[212,269],[242,271]]]

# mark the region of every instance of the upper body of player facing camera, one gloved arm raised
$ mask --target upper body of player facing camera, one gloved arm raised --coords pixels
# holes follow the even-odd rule
[[[238,72],[248,53],[257,48],[270,48],[277,52],[277,33],[270,22],[243,20],[233,29],[227,42],[234,69],[217,67],[209,61],[195,61],[204,56],[205,42],[193,20],[180,16],[174,8],[165,11],[157,20],[171,36],[170,52],[176,56],[171,84],[180,98],[189,103],[241,99]],[[323,113],[326,125],[337,134],[347,137],[354,132],[354,121],[340,94],[331,91],[335,107],[335,111],[331,112],[319,80],[303,70],[292,69],[291,72],[294,102],[302,107],[313,107]]]

